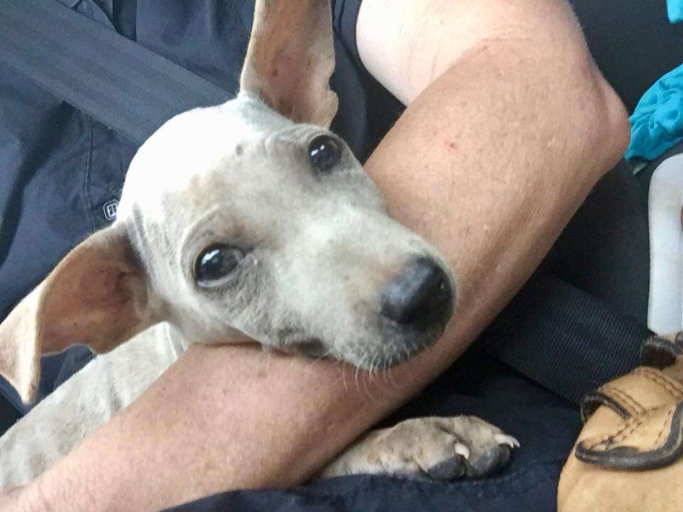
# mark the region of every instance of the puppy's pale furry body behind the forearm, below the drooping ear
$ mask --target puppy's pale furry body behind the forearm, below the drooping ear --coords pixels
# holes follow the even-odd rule
[[[30,484],[142,394],[179,350],[161,325],[90,361],[0,437],[0,491]]]

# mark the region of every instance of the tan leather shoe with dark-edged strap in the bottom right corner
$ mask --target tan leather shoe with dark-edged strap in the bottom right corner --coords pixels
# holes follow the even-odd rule
[[[683,333],[645,341],[641,363],[584,398],[559,512],[683,511]]]

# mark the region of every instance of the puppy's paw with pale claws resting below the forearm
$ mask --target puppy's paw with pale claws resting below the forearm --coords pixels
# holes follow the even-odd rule
[[[472,416],[425,417],[369,432],[322,473],[386,474],[411,479],[477,477],[507,463],[517,439]]]

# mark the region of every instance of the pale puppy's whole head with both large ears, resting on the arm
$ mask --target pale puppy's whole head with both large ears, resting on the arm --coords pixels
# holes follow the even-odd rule
[[[171,119],[130,166],[118,218],[0,326],[0,373],[33,396],[42,353],[109,351],[168,321],[186,343],[391,366],[441,334],[443,260],[388,217],[329,124],[325,0],[257,2],[240,95]]]

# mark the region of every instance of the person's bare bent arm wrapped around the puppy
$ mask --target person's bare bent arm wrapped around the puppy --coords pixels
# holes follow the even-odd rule
[[[366,169],[455,270],[445,336],[360,385],[330,361],[191,348],[19,507],[156,510],[303,481],[462,353],[625,148],[623,107],[561,1],[365,0],[358,28],[366,66],[409,104]]]

